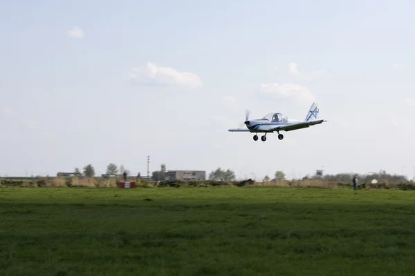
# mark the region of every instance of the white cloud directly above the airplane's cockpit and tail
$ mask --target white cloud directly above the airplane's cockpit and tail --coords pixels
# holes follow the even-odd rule
[[[297,101],[311,102],[315,100],[314,95],[305,86],[295,83],[261,83],[259,93],[268,95],[275,99],[295,99]]]

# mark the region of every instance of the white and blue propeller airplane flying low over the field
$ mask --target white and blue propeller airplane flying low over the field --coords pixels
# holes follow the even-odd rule
[[[288,117],[282,115],[281,113],[268,113],[262,119],[248,120],[249,112],[246,112],[246,124],[247,128],[230,128],[228,131],[231,132],[254,132],[254,140],[258,140],[258,133],[265,133],[261,136],[262,141],[266,141],[266,134],[268,132],[277,132],[278,139],[282,140],[284,135],[279,133],[280,131],[291,131],[301,128],[308,128],[309,126],[314,126],[317,124],[322,124],[326,121],[323,119],[318,119],[318,104],[313,103],[310,110],[308,110],[306,119],[304,121],[291,120]]]

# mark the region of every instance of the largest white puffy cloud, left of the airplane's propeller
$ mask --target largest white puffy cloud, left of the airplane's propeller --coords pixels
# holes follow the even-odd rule
[[[202,86],[201,78],[190,72],[178,72],[173,68],[156,66],[147,62],[144,68],[133,68],[127,79],[139,83],[160,83],[196,88]]]

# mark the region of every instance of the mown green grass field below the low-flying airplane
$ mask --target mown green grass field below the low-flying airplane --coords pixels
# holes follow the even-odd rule
[[[415,191],[0,188],[0,275],[414,275]]]

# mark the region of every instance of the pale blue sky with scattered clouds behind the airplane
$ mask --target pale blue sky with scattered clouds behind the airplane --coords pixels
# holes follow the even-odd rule
[[[0,175],[415,172],[414,1],[0,0]],[[228,132],[282,112],[323,124]],[[150,172],[151,175],[151,172]]]

